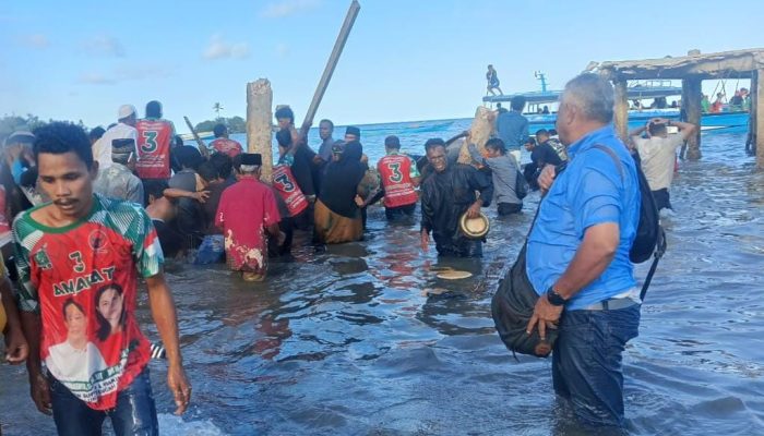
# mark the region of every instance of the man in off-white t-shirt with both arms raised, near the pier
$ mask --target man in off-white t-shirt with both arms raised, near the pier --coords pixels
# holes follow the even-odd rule
[[[668,126],[679,128],[679,133],[669,134]],[[643,132],[647,132],[647,137],[641,136]],[[677,148],[695,132],[695,124],[654,118],[645,126],[629,133],[634,148],[640,153],[642,171],[653,191],[658,210],[672,209],[668,190],[673,180]]]

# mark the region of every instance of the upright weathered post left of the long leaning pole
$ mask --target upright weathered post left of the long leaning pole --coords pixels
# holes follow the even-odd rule
[[[267,78],[247,84],[247,152],[263,156],[261,179],[271,180],[273,170],[273,90]]]

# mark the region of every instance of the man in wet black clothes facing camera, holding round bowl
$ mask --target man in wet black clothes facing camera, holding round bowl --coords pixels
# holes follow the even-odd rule
[[[458,222],[464,214],[477,218],[480,207],[491,204],[491,180],[470,165],[449,164],[445,142],[439,137],[428,140],[425,149],[434,173],[421,187],[421,249],[427,252],[432,233],[441,256],[481,257],[482,241],[467,238]]]

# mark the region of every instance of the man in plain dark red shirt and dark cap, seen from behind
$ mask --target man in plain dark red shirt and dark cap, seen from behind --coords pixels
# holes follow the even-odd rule
[[[225,237],[228,267],[241,271],[246,281],[262,281],[267,270],[267,238],[283,239],[278,206],[273,191],[260,181],[262,157],[242,153],[234,159],[237,183],[220,196],[215,226]]]

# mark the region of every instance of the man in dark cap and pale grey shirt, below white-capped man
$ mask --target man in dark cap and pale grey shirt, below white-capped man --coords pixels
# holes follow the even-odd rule
[[[111,166],[98,171],[93,190],[105,196],[143,205],[143,183],[133,174],[135,170],[135,141],[111,142]]]

